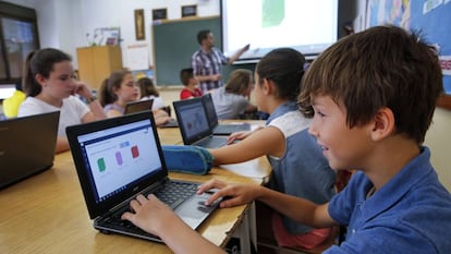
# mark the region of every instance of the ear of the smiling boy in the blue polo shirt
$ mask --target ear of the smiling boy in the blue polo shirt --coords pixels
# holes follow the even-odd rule
[[[373,140],[378,141],[394,132],[394,114],[389,108],[381,108],[374,117]]]

